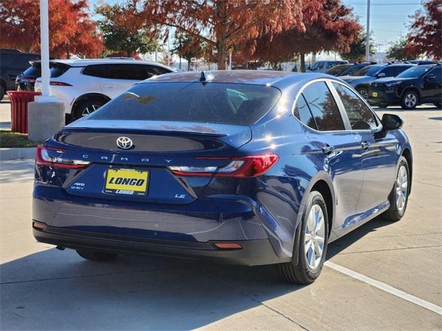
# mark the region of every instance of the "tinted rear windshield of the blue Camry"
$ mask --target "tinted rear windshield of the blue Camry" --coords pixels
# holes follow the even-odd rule
[[[88,118],[249,126],[273,108],[280,94],[271,86],[235,83],[141,83]]]

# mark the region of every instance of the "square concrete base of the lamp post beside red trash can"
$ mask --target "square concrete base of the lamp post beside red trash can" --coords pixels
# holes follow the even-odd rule
[[[64,126],[64,105],[54,102],[28,103],[28,139],[45,141]]]

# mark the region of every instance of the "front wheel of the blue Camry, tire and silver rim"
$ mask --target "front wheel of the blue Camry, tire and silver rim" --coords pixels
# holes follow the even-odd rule
[[[401,157],[396,181],[392,192],[390,192],[390,208],[383,213],[388,221],[398,221],[405,214],[407,209],[408,195],[410,193],[410,170],[405,157]]]

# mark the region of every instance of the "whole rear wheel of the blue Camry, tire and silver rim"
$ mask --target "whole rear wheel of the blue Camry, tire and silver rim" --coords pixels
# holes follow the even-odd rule
[[[327,206],[320,192],[310,192],[300,227],[299,244],[295,245],[293,253],[298,263],[295,263],[296,259],[292,259],[289,263],[278,264],[277,268],[289,283],[309,284],[323,270],[327,254]]]

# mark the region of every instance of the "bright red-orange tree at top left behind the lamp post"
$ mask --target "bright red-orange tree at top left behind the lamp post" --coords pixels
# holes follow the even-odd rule
[[[49,1],[49,52],[51,57],[70,54],[98,57],[104,50],[86,0]],[[0,3],[2,48],[40,50],[40,9],[35,0],[2,0]]]

